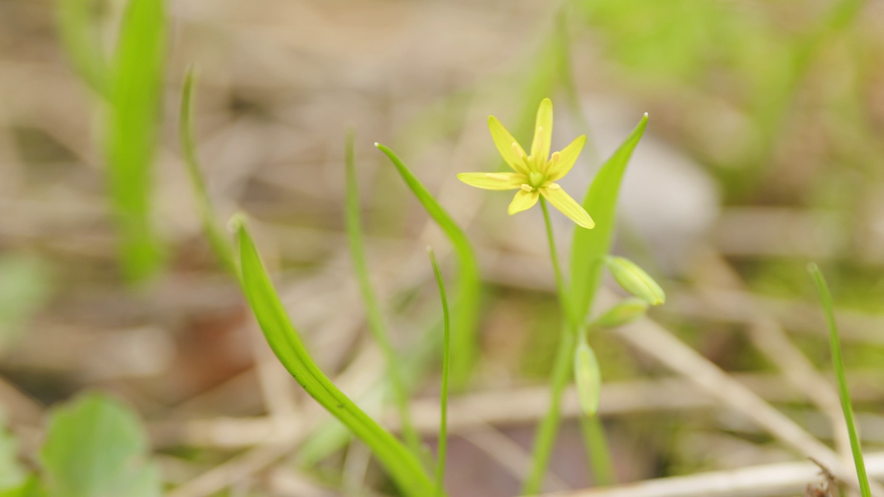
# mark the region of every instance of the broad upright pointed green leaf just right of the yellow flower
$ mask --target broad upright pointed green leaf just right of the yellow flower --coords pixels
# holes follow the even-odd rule
[[[621,144],[592,180],[583,199],[583,209],[596,221],[595,229],[575,229],[571,244],[571,311],[582,321],[590,311],[592,299],[601,281],[602,260],[611,248],[617,195],[629,157],[642,139],[648,124],[645,114],[636,129]]]

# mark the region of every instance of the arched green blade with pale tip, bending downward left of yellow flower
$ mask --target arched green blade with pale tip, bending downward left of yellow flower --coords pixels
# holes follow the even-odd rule
[[[402,163],[401,159],[384,145],[375,144],[378,149],[390,157],[392,164],[405,180],[408,188],[415,194],[423,208],[430,217],[446,233],[451,241],[454,252],[457,254],[459,265],[457,298],[454,303],[454,322],[452,326],[452,349],[454,360],[452,362],[451,378],[454,388],[462,388],[469,380],[469,373],[477,356],[476,324],[479,315],[479,299],[481,289],[479,287],[478,265],[476,254],[469,244],[466,233],[461,226],[457,226],[446,210],[442,209],[438,201],[417,180],[414,173]]]

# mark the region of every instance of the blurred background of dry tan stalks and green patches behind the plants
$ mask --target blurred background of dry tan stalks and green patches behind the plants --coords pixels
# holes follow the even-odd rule
[[[94,3],[106,40],[124,5]],[[59,41],[57,4],[0,2],[0,401],[24,458],[46,409],[101,389],[139,412],[165,481],[189,488],[213,468],[237,475],[179,497],[393,492],[365,447],[323,428],[210,252],[178,142],[191,63],[218,212],[248,214],[317,361],[378,416],[370,386],[384,365],[343,225],[347,130],[371,278],[403,356],[438,317],[423,248],[443,258],[449,248],[373,143],[396,150],[467,229],[484,279],[481,357],[453,399],[452,495],[518,493],[545,409],[559,318],[540,212],[509,217],[509,195],[455,178],[499,167],[489,114],[524,142],[545,96],[553,149],[590,137],[563,182],[578,198],[649,113],[616,250],[666,288],[652,317],[831,440],[826,418],[760,350],[752,321],[773,317],[830,378],[804,270],[821,264],[866,447],[884,445],[884,2],[171,0],[166,9],[151,193],[164,264],[132,285],[118,262],[102,103]],[[565,255],[573,225],[553,217]],[[620,481],[795,459],[617,337],[592,343],[612,392],[602,415]],[[415,421],[434,443],[438,358],[428,361],[415,377]],[[661,382],[668,394],[654,395]],[[550,491],[592,485],[575,406],[569,397]],[[267,455],[268,437],[288,424],[325,435]]]

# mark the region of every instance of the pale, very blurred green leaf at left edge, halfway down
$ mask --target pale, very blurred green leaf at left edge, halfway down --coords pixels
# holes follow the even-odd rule
[[[19,338],[50,291],[50,274],[42,259],[27,254],[0,257],[0,351]]]

